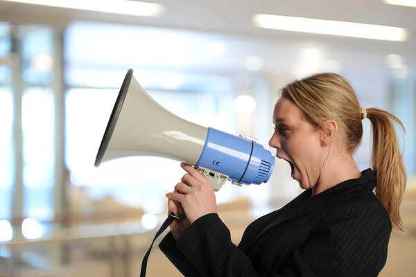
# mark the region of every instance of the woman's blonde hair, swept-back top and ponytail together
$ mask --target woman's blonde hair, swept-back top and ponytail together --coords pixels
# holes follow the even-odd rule
[[[399,208],[406,188],[406,168],[394,123],[405,131],[399,118],[388,111],[362,110],[352,86],[335,73],[319,73],[295,80],[281,90],[281,96],[294,102],[315,127],[326,128],[334,119],[345,132],[347,150],[353,154],[363,137],[363,114],[372,123],[371,168],[376,173],[375,194],[390,215],[392,226],[404,231]]]

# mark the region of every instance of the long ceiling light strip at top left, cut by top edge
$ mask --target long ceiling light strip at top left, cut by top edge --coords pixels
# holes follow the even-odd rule
[[[164,6],[156,3],[146,3],[127,0],[5,0],[8,2],[26,3],[33,5],[71,8],[77,10],[92,10],[94,12],[110,12],[121,15],[139,15],[143,17],[158,17],[163,14]]]

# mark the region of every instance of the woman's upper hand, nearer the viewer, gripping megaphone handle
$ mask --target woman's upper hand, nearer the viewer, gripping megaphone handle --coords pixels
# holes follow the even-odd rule
[[[211,184],[198,170],[184,163],[181,166],[188,173],[175,186],[179,193],[168,193],[166,197],[180,202],[192,224],[203,215],[217,212],[216,197]]]

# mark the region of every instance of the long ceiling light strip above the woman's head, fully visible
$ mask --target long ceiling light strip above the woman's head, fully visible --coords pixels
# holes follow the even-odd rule
[[[293,32],[361,37],[397,42],[405,41],[408,38],[406,29],[390,26],[260,14],[254,15],[252,21],[259,28],[290,30]]]

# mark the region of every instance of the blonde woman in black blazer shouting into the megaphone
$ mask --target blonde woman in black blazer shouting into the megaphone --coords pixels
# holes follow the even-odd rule
[[[353,153],[372,123],[372,169],[360,172]],[[159,248],[184,276],[378,276],[399,215],[406,170],[395,133],[400,120],[362,109],[340,75],[321,73],[281,90],[270,146],[291,164],[304,192],[248,226],[238,246],[216,213],[207,180],[191,166],[168,193],[173,213]],[[181,207],[182,205],[182,207]]]

